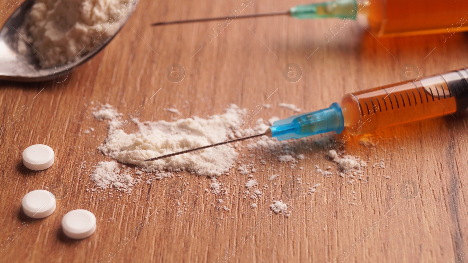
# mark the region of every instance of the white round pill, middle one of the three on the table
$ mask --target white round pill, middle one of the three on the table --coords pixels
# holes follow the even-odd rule
[[[21,206],[27,216],[44,218],[55,211],[55,196],[47,190],[30,191],[23,197]]]

